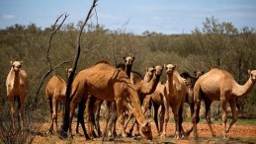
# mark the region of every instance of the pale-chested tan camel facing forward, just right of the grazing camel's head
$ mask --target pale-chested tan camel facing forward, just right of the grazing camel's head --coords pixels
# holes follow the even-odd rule
[[[165,114],[161,137],[166,136],[167,122],[169,121],[169,107],[171,107],[175,120],[175,138],[181,138],[182,134],[185,134],[182,127],[182,112],[187,94],[185,79],[177,72],[176,65],[167,64],[165,68],[167,81],[164,89],[164,108],[162,110]]]

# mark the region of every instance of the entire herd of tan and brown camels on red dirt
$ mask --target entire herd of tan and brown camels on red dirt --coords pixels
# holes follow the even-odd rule
[[[246,96],[256,82],[256,70],[248,71],[249,79],[244,85],[235,82],[230,73],[219,68],[209,72],[179,73],[173,64],[157,65],[146,68],[144,76],[132,70],[134,57],[124,57],[125,63],[117,67],[108,61],[99,61],[93,66],[77,73],[71,87],[71,102],[69,111],[69,134],[72,135],[72,119],[75,109],[78,108],[77,127],[82,126],[86,139],[102,136],[100,127],[101,106],[106,104],[105,115],[114,114],[113,123],[107,129],[109,136],[116,136],[116,122],[120,122],[121,135],[127,137],[134,130],[134,135],[140,135],[152,140],[151,124],[145,118],[146,111],[153,106],[156,129],[160,137],[166,136],[169,111],[172,110],[175,120],[175,138],[188,137],[193,131],[194,138],[198,138],[197,124],[200,121],[201,101],[205,102],[206,119],[212,135],[211,105],[213,101],[220,101],[222,106],[223,137],[237,120],[236,102],[238,98]],[[22,61],[11,61],[11,70],[7,76],[7,97],[11,104],[13,127],[14,103],[18,102],[19,122],[24,130],[24,105],[28,86],[28,76],[22,69]],[[71,69],[67,70],[69,74]],[[166,82],[160,82],[160,77],[166,72]],[[69,75],[68,75],[69,76]],[[53,134],[53,125],[58,132],[57,109],[59,103],[65,103],[66,82],[59,75],[53,75],[45,85],[45,97],[50,108],[51,122],[48,133]],[[104,103],[106,102],[106,103]],[[182,126],[183,108],[189,104],[193,126],[185,130]],[[226,128],[227,104],[232,111],[232,121]],[[114,108],[114,110],[110,110]],[[159,110],[159,112],[158,112]],[[126,113],[128,119],[126,121]],[[85,114],[85,115],[84,115]],[[135,121],[130,123],[130,119]],[[84,122],[86,117],[86,126]],[[159,120],[158,120],[159,117]],[[131,126],[128,126],[128,123]],[[129,128],[129,129],[128,129]]]

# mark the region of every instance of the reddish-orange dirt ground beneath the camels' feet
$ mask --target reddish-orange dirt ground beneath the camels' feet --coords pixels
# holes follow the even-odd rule
[[[168,130],[167,130],[167,137],[166,138],[160,138],[157,134],[156,127],[154,122],[151,122],[152,132],[153,132],[153,140],[147,141],[144,140],[142,137],[137,138],[121,138],[120,136],[116,137],[115,139],[106,139],[105,141],[102,141],[102,138],[96,138],[94,140],[85,140],[84,136],[82,134],[75,134],[75,124],[76,122],[73,122],[73,139],[59,139],[56,135],[47,135],[43,134],[45,133],[46,129],[49,126],[49,123],[43,123],[43,126],[40,130],[40,133],[36,135],[36,137],[33,139],[32,143],[35,144],[44,144],[44,143],[55,143],[55,144],[66,144],[66,143],[74,143],[74,144],[87,144],[87,143],[105,143],[105,144],[111,144],[111,143],[185,143],[185,144],[191,144],[191,143],[256,143],[256,126],[250,126],[250,125],[234,125],[229,133],[227,133],[227,138],[222,138],[221,131],[222,131],[222,125],[221,124],[213,124],[213,129],[216,133],[216,137],[213,138],[211,131],[209,129],[208,124],[204,124],[203,122],[200,122],[198,125],[198,132],[199,132],[199,140],[194,140],[193,138],[193,132],[191,133],[190,137],[188,139],[180,139],[176,140],[174,139],[174,123],[169,122],[168,123]],[[184,122],[183,126],[185,129],[188,129],[191,123]],[[101,121],[101,127],[104,129],[105,124]],[[119,124],[118,124],[119,127]],[[82,133],[82,129],[80,128],[80,133]],[[120,131],[118,129],[118,134],[120,134]]]

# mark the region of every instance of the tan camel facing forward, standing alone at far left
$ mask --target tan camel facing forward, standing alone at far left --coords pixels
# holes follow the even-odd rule
[[[24,130],[24,106],[26,100],[26,91],[29,84],[28,76],[25,70],[22,69],[23,61],[11,61],[11,70],[6,79],[7,97],[11,103],[11,115],[13,128],[15,129],[15,101],[18,101],[18,121],[21,124],[22,131]]]

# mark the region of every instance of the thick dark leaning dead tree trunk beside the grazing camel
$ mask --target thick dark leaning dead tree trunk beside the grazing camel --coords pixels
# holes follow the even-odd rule
[[[80,28],[80,32],[77,36],[77,41],[76,41],[76,55],[73,61],[73,71],[70,73],[69,77],[68,77],[68,82],[67,82],[67,87],[66,87],[66,103],[65,103],[65,109],[64,109],[64,118],[62,121],[62,125],[61,125],[61,129],[60,129],[60,134],[62,137],[66,137],[67,136],[67,130],[69,128],[69,104],[70,104],[70,94],[71,94],[71,84],[73,82],[74,79],[74,73],[76,71],[76,66],[78,63],[78,59],[79,59],[79,55],[80,55],[80,40],[81,40],[81,35],[83,33],[83,29],[85,27],[85,25],[87,24],[88,20],[92,17],[92,11],[94,10],[94,8],[96,7],[96,3],[98,0],[93,0],[93,4],[86,16],[86,19],[84,21],[84,23],[82,24],[81,28]]]

